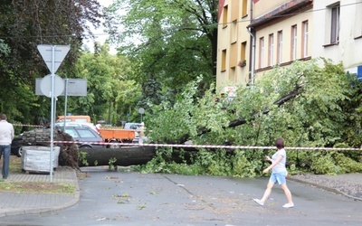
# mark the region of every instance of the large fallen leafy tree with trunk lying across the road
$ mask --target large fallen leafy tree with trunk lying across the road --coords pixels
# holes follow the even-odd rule
[[[297,64],[294,72],[292,67],[291,71],[276,71],[274,77],[253,89],[240,88],[238,96],[227,103],[228,106],[214,103],[212,91],[198,98],[193,93],[195,88],[186,89],[183,93],[185,97],[177,99],[174,105],[163,103],[154,107],[153,118],[148,124],[152,128],[149,140],[157,144],[185,144],[191,140],[195,141],[194,144],[270,146],[275,137],[283,137],[288,140],[288,146],[348,146],[349,141],[343,136],[351,137],[350,134],[355,135],[358,129],[356,114],[352,115],[353,124],[348,121],[348,108],[354,107],[355,102],[356,106],[360,103],[359,99],[350,103],[350,99],[356,96],[354,92],[360,89],[351,91],[351,81],[340,65],[329,65],[328,70],[321,70],[313,65]],[[326,78],[330,81],[326,82]],[[354,108],[350,109],[352,113]],[[360,121],[359,116],[357,119]],[[351,132],[348,133],[348,130]],[[354,139],[360,141],[357,136]],[[157,155],[157,148],[149,146],[81,150],[80,153],[85,154],[79,159],[79,164],[144,165],[152,160],[149,166],[159,170],[178,160],[186,163],[185,159],[177,159],[176,148],[162,148],[162,151]],[[262,152],[239,150],[233,153],[223,149],[189,148],[185,153],[192,151],[197,152],[191,158],[194,169],[197,167],[195,171],[199,172],[199,168],[211,169],[206,170],[206,174],[227,172],[250,176],[257,174],[263,165]],[[291,162],[313,163],[320,159],[329,160],[329,154],[333,155],[332,152],[326,155],[297,151],[291,152],[289,159]],[[352,159],[358,156],[355,153],[346,155],[351,155]],[[338,163],[349,156],[336,153],[333,157]],[[335,165],[334,162],[325,162],[320,166],[310,165],[310,169],[319,172],[319,168]],[[171,171],[167,169],[166,172]]]

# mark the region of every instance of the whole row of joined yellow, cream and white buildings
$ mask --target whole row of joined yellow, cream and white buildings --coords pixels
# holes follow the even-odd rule
[[[224,0],[219,4],[219,89],[252,84],[276,64],[318,57],[342,61],[346,71],[362,78],[362,51],[357,51],[362,50],[362,0]],[[246,63],[241,66],[241,62]]]

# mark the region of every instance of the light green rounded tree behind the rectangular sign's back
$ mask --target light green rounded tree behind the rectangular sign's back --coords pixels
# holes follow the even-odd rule
[[[141,97],[131,62],[122,55],[110,55],[107,44],[96,52],[82,52],[72,75],[87,79],[87,97],[71,98],[70,112],[87,114],[93,120],[106,119],[112,124],[126,121]]]

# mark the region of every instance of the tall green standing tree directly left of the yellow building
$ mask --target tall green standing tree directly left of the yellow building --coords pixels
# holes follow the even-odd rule
[[[205,90],[216,74],[217,6],[215,0],[117,1],[106,25],[119,51],[140,62],[142,82],[153,77],[164,92],[177,92],[203,74]]]

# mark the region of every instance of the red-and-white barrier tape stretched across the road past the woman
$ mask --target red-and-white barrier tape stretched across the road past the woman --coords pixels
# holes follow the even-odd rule
[[[97,145],[117,145],[117,146],[165,146],[165,147],[199,147],[199,148],[219,148],[219,149],[275,149],[275,146],[210,146],[210,145],[168,145],[168,144],[138,144],[138,143],[92,143],[76,141],[53,141],[53,143],[76,143],[76,144],[97,144]],[[329,151],[361,151],[361,148],[353,147],[285,147],[288,150],[329,150]]]

